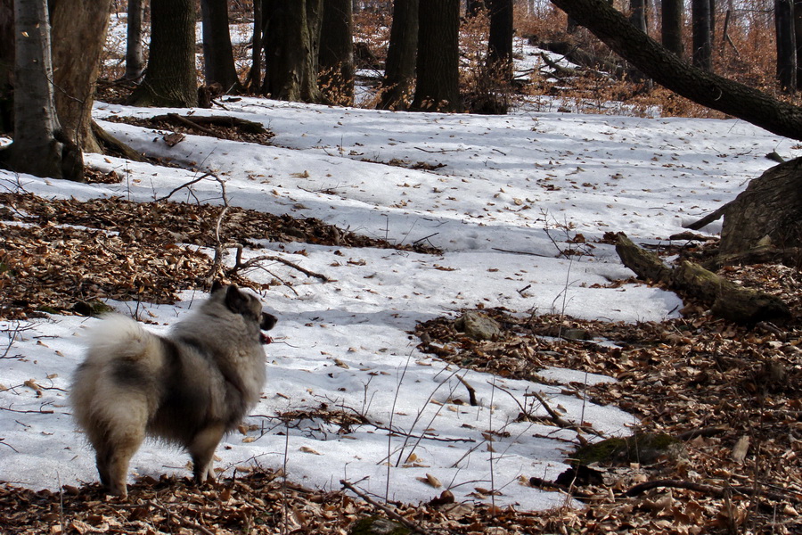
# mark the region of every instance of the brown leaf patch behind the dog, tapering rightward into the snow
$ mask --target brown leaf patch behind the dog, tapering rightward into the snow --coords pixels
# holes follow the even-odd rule
[[[201,288],[209,276],[209,257],[188,245],[215,245],[219,212],[205,204],[0,193],[0,317],[84,313],[103,299],[175,302],[177,292]],[[254,240],[393,247],[315,218],[236,208],[226,212],[221,235],[253,248]]]

